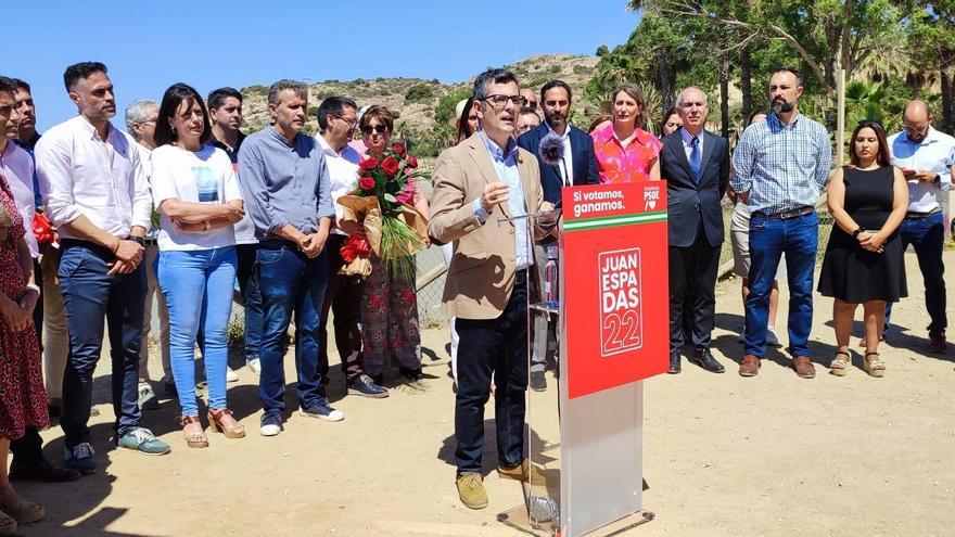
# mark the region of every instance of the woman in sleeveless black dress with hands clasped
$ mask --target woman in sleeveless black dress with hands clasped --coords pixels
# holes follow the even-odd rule
[[[863,305],[866,353],[864,368],[882,376],[879,334],[886,303],[907,296],[905,261],[897,229],[908,208],[908,186],[890,164],[886,131],[877,122],[860,122],[849,144],[850,165],[829,181],[832,234],[823,259],[819,293],[835,298],[832,324],[839,350],[829,372],[849,372],[849,336],[856,307]]]

